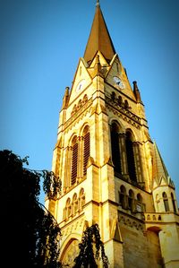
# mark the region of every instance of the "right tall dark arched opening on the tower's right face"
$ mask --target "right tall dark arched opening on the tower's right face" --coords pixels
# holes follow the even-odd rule
[[[125,140],[126,154],[127,154],[127,165],[129,177],[132,181],[137,182],[136,171],[135,171],[135,160],[133,154],[133,145],[132,145],[132,134],[130,132],[126,133]]]

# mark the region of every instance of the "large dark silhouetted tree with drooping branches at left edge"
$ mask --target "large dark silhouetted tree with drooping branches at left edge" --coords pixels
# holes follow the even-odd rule
[[[48,196],[61,185],[53,172],[25,169],[24,163],[27,157],[0,151],[1,262],[5,267],[57,268],[60,228],[38,195],[41,178]]]

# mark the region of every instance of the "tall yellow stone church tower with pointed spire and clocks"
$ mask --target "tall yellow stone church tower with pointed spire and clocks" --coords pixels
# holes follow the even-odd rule
[[[62,262],[72,267],[83,230],[98,223],[109,267],[179,267],[175,186],[98,2],[72,88],[64,92],[53,171],[62,191],[46,206],[62,230]]]

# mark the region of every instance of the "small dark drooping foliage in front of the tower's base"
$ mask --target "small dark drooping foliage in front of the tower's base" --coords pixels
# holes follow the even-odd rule
[[[98,224],[88,227],[84,232],[79,244],[80,253],[74,259],[73,268],[96,268],[101,258],[103,267],[108,267],[108,259],[105,254],[104,244],[101,241]]]

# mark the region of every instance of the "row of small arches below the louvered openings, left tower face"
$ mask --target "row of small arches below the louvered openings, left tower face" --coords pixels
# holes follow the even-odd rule
[[[85,193],[84,189],[81,188],[79,195],[76,193],[71,198],[69,197],[66,200],[64,207],[64,220],[69,220],[71,217],[74,217],[77,213],[80,213],[85,204]]]

